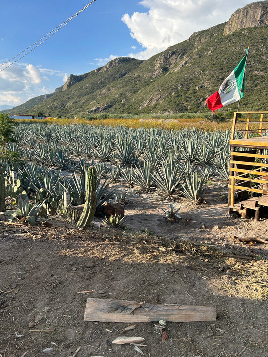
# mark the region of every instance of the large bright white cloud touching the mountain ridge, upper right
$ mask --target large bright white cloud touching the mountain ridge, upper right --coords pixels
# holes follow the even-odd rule
[[[122,21],[128,26],[133,39],[144,51],[129,54],[140,59],[165,50],[184,41],[196,31],[228,21],[239,7],[251,0],[143,0],[147,12],[125,14]]]

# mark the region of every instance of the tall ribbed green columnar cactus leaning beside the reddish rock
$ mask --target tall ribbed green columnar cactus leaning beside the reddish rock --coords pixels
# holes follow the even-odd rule
[[[81,217],[77,223],[79,228],[83,230],[86,229],[96,211],[96,181],[97,181],[97,171],[94,166],[88,168],[87,173],[87,187],[86,187],[86,196],[85,196],[85,206]]]

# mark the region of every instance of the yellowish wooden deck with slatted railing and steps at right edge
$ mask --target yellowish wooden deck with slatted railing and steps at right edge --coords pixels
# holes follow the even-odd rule
[[[239,119],[238,114],[247,118]],[[240,139],[235,138],[238,133]],[[248,209],[255,210],[255,220],[259,220],[259,208],[268,207],[268,112],[235,112],[229,143],[229,212],[246,218]],[[252,197],[256,193],[261,197]],[[235,203],[236,194],[242,200],[239,203]]]

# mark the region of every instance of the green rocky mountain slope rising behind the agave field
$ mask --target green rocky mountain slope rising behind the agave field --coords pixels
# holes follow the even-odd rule
[[[25,103],[8,112],[86,117],[101,112],[204,111],[206,98],[242,59],[248,45],[240,109],[267,110],[268,1],[262,1],[237,10],[227,23],[196,32],[148,60],[117,58],[91,72],[70,75],[62,91],[31,102],[32,107]],[[236,109],[237,104],[228,108]]]

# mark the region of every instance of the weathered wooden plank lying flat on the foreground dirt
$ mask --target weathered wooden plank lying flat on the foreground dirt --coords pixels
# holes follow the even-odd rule
[[[135,301],[88,298],[84,321],[150,322],[215,321],[215,307],[178,304],[153,305]]]

